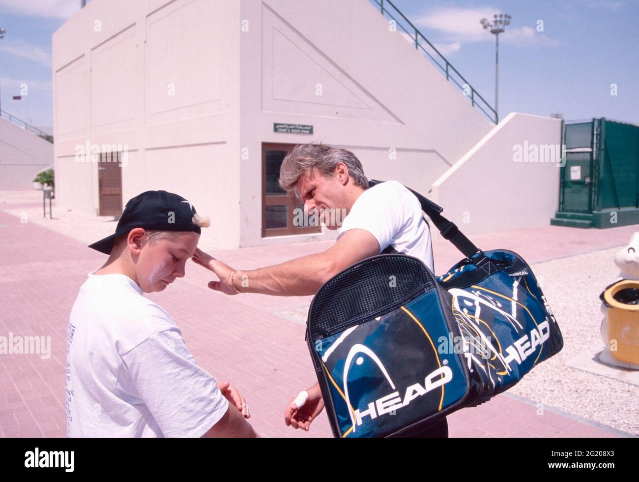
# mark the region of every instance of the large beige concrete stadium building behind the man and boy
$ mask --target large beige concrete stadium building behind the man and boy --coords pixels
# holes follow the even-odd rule
[[[277,188],[284,155],[321,140],[353,151],[369,178],[433,196],[460,225],[470,210],[468,232],[548,224],[558,169],[521,169],[513,146],[558,144],[560,121],[495,125],[379,7],[91,1],[52,39],[58,205],[118,214],[166,189],[212,217],[203,237],[228,247],[332,238],[291,226],[296,203]],[[544,202],[530,209],[533,198]],[[482,224],[495,203],[508,209]]]

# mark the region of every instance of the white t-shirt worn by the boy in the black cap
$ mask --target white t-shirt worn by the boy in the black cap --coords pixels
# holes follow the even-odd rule
[[[122,274],[89,274],[71,316],[68,437],[200,437],[226,413],[180,329]]]

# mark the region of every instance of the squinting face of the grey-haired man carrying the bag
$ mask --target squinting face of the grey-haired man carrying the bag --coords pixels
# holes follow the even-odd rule
[[[346,176],[348,176],[348,171]],[[309,212],[309,215],[317,210],[319,221],[323,222],[328,229],[339,228],[335,223],[335,219],[338,218],[332,213],[348,208],[348,206],[344,205],[344,185],[340,182],[337,173],[324,175],[313,169],[310,173],[300,176],[296,187],[300,193],[300,199],[304,203],[304,209]]]

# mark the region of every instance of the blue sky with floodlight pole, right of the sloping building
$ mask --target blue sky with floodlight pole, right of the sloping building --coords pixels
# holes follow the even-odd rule
[[[638,1],[392,1],[491,105],[495,35],[479,19],[512,15],[499,39],[500,118],[518,111],[639,123]]]

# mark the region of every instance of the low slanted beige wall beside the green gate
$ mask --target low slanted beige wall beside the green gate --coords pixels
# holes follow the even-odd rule
[[[548,226],[558,208],[560,169],[553,161],[560,155],[532,156],[534,146],[542,153],[548,152],[544,146],[560,143],[561,120],[511,113],[436,180],[427,196],[464,233]]]

